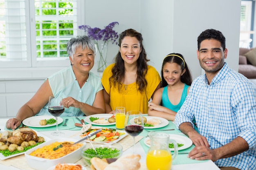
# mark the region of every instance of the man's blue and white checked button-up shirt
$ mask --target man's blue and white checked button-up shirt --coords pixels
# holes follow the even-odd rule
[[[236,137],[247,141],[249,150],[234,157],[219,159],[217,166],[256,170],[256,86],[224,64],[208,85],[205,75],[196,78],[189,95],[175,117],[177,128],[192,124],[207,138],[211,149],[228,144]],[[192,124],[193,125],[193,124]]]

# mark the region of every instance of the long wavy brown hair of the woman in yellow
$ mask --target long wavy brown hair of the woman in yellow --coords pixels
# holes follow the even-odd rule
[[[139,91],[143,92],[147,86],[147,81],[145,79],[145,75],[148,72],[148,64],[149,61],[147,59],[146,51],[142,44],[143,38],[141,33],[135,31],[134,29],[127,29],[119,35],[118,46],[121,47],[121,42],[126,37],[135,37],[139,41],[141,47],[141,53],[139,54],[139,58],[137,60],[137,79],[136,84],[139,86]],[[115,57],[115,66],[112,68],[112,76],[109,78],[110,82],[113,82],[114,86],[118,86],[118,90],[120,91],[121,82],[124,79],[125,69],[124,69],[124,60],[121,57],[120,51],[118,51]]]

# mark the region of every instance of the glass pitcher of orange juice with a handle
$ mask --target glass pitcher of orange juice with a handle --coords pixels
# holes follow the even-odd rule
[[[177,143],[170,139],[169,135],[161,132],[149,132],[150,148],[146,157],[148,170],[171,170],[172,159],[178,155]],[[174,145],[174,153],[171,155],[169,143]]]

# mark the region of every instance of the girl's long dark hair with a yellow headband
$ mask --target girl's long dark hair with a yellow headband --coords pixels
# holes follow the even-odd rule
[[[169,56],[168,56],[169,55]],[[185,83],[186,85],[188,86],[191,86],[191,83],[192,83],[192,76],[191,76],[191,73],[189,71],[189,67],[188,67],[188,64],[186,64],[185,60],[184,60],[184,57],[183,55],[179,54],[179,53],[171,53],[171,54],[168,54],[166,56],[168,57],[165,57],[164,58],[164,61],[163,61],[163,64],[162,64],[162,70],[161,70],[161,77],[162,77],[162,84],[161,84],[161,87],[165,87],[167,86],[167,82],[166,80],[164,79],[164,73],[163,73],[163,68],[164,68],[164,65],[168,62],[168,63],[177,63],[181,66],[181,69],[182,71],[184,70],[184,68],[186,68],[186,71],[185,73],[180,77],[180,81],[182,83]],[[180,57],[183,58],[183,60],[180,58],[180,57],[177,57],[175,55],[178,55]],[[185,64],[185,67],[184,67],[184,64]]]

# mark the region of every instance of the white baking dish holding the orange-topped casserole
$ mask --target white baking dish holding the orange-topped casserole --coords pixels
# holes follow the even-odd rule
[[[81,148],[75,150],[74,152],[71,152],[63,157],[60,157],[58,159],[44,159],[39,157],[34,157],[29,155],[31,152],[38,148],[42,148],[43,146],[52,144],[54,142],[64,142],[64,141],[73,141],[76,142],[76,139],[69,139],[69,138],[57,138],[52,139],[49,141],[46,141],[43,144],[40,144],[34,148],[29,149],[27,152],[25,152],[25,157],[27,159],[27,163],[31,168],[34,168],[36,170],[47,170],[47,168],[50,168],[52,166],[56,166],[58,163],[75,163],[79,159],[81,159]]]

